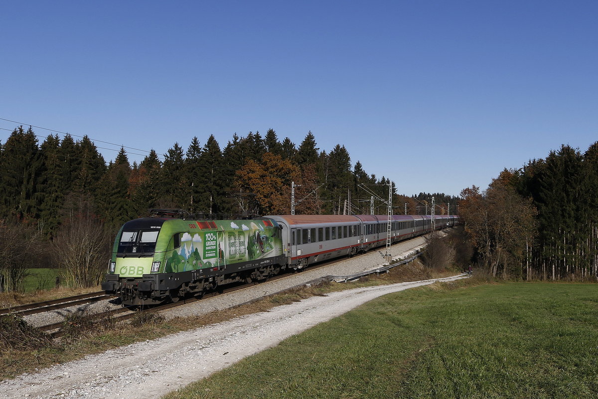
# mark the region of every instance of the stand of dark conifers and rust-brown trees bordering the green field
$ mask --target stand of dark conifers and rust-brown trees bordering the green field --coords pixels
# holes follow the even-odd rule
[[[597,281],[598,142],[563,145],[461,192],[459,214],[478,264],[524,280]]]

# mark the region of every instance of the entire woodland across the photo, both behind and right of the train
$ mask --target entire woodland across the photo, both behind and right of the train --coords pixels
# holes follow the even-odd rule
[[[41,143],[40,143],[41,142]],[[198,218],[297,214],[460,214],[466,263],[517,280],[596,280],[598,276],[598,143],[582,154],[562,146],[545,159],[502,171],[482,191],[399,195],[386,177],[368,174],[346,148],[318,148],[309,132],[295,145],[274,130],[234,134],[224,149],[197,137],[187,149],[149,151],[138,163],[120,149],[106,163],[89,137],[37,136],[17,127],[0,143],[0,291],[22,290],[30,268],[60,269],[60,284],[100,283],[122,223],[151,208],[179,208]],[[463,256],[465,254],[465,256]]]

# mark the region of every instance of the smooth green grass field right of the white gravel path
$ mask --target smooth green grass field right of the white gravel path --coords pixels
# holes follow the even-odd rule
[[[596,398],[598,284],[390,294],[284,340],[182,398]]]

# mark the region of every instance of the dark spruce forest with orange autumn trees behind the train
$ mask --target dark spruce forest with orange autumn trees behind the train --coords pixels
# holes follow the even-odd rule
[[[124,148],[106,164],[87,136],[37,136],[31,127],[17,127],[0,145],[0,290],[19,290],[35,267],[59,268],[68,286],[96,286],[120,226],[151,208],[202,219],[290,214],[292,182],[297,214],[369,214],[371,194],[359,185],[389,195],[389,179],[366,173],[359,161],[352,167],[342,145],[321,151],[311,132],[298,146],[271,129],[264,137],[234,134],[224,149],[213,136],[203,144],[194,137],[186,150],[175,143],[139,164]],[[432,196],[437,214],[457,201],[392,192],[396,213],[429,213]],[[386,212],[376,199],[374,213]]]

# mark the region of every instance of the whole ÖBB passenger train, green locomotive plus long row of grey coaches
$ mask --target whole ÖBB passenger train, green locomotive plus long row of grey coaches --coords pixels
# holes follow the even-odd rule
[[[124,223],[102,283],[123,306],[201,297],[227,284],[263,281],[281,271],[352,256],[436,229],[458,216],[271,215],[196,220],[161,213]]]

